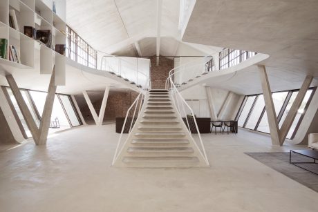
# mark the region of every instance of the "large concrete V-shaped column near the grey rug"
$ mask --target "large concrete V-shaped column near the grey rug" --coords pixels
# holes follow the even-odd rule
[[[301,105],[301,102],[303,102],[303,98],[306,95],[306,92],[312,82],[313,77],[306,76],[306,79],[303,81],[299,93],[297,94],[296,99],[294,99],[292,107],[290,108],[286,119],[281,126],[281,129],[279,129],[266,68],[265,66],[258,66],[258,68],[261,77],[261,85],[263,88],[263,96],[265,101],[266,113],[268,115],[268,124],[270,126],[270,137],[272,138],[272,144],[281,146],[283,145],[283,142],[285,142],[288,131],[290,130],[290,126],[292,126],[292,122],[294,122],[294,118],[297,115],[297,110]]]

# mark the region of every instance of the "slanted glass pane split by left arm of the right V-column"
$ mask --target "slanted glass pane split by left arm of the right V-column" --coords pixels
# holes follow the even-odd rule
[[[277,116],[279,115],[279,112],[281,111],[281,107],[283,106],[283,103],[285,102],[287,95],[288,95],[288,92],[279,92],[279,93],[272,94],[274,108],[275,108],[275,112]],[[268,126],[268,115],[266,111],[261,119],[261,122],[259,122],[257,131],[270,133],[270,127]]]

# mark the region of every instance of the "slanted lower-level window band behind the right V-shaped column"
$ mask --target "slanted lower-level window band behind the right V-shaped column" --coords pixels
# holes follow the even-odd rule
[[[307,90],[294,122],[290,127],[290,131],[288,131],[288,139],[293,139],[295,133],[297,132],[297,126],[299,126],[301,123],[302,117],[306,111],[306,107],[310,102],[314,90],[315,89],[312,88]],[[298,90],[289,90],[272,93],[279,127],[282,126],[284,120],[286,119],[286,116],[294,102],[294,99],[296,99],[298,92]],[[250,95],[245,97],[245,101],[243,101],[241,107],[242,109],[239,111],[240,114],[238,114],[238,126],[249,128],[255,131],[261,131],[263,133],[270,133],[263,95]]]

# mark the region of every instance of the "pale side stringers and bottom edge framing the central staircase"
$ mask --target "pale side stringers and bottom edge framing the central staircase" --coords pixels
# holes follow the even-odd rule
[[[131,129],[131,132],[129,133],[127,139],[125,140],[124,144],[122,145],[122,148],[120,149],[119,153],[118,153],[118,157],[115,159],[115,162],[113,163],[113,166],[121,166],[121,167],[144,167],[144,168],[167,168],[167,167],[173,167],[173,168],[190,168],[190,167],[207,167],[209,166],[209,164],[205,161],[203,154],[201,153],[200,149],[198,148],[198,145],[196,144],[196,142],[194,141],[193,137],[191,136],[191,134],[189,133],[189,131],[187,130],[187,126],[185,125],[185,123],[183,122],[182,117],[180,116],[180,114],[178,113],[178,111],[176,110],[176,106],[174,105],[174,103],[172,102],[171,99],[171,94],[169,93],[169,99],[171,100],[171,107],[174,111],[174,113],[176,114],[176,119],[178,120],[178,126],[180,126],[182,128],[182,132],[185,133],[185,139],[187,139],[189,141],[189,144],[185,144],[185,147],[189,147],[193,149],[193,153],[189,153],[189,155],[187,155],[188,157],[196,157],[198,159],[198,162],[196,164],[182,164],[181,166],[149,166],[149,164],[147,166],[131,166],[129,164],[126,164],[125,162],[123,162],[124,157],[129,157],[129,153],[128,150],[129,148],[133,147],[132,141],[133,139],[138,139],[138,137],[135,136],[135,133],[140,132],[140,130],[138,129],[139,126],[142,126],[142,124],[140,123],[142,120],[144,120],[143,116],[144,116],[144,110],[146,110],[147,108],[147,104],[149,102],[149,92],[146,93],[145,98],[144,98],[144,104],[142,105],[142,108],[140,110],[140,113],[138,115],[138,118],[136,119],[136,122],[133,126],[133,128]]]

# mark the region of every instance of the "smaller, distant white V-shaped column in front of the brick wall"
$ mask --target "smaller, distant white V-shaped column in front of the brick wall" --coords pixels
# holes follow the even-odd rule
[[[109,96],[109,86],[106,86],[105,92],[104,92],[104,97],[102,100],[102,106],[100,107],[100,114],[97,115],[96,110],[91,102],[91,99],[89,99],[87,92],[84,90],[83,91],[84,98],[86,100],[86,103],[88,105],[89,110],[91,111],[91,114],[93,115],[93,119],[96,123],[96,125],[102,125],[103,120],[104,120],[104,113],[105,113],[105,108],[107,104],[107,99]]]

